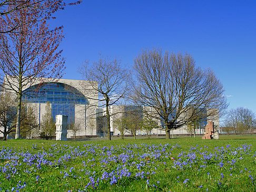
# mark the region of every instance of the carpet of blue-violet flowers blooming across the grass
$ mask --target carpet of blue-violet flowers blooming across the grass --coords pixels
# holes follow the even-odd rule
[[[180,152],[175,157],[173,150]],[[159,144],[128,144],[121,146],[101,147],[86,144],[83,147],[54,144],[45,149],[33,145],[30,150],[16,151],[3,147],[0,151],[0,191],[28,191],[42,186],[45,182],[55,181],[55,185],[65,186],[72,190],[69,183],[77,182],[77,191],[97,190],[102,186],[129,185],[130,181],[144,182],[146,189],[162,190],[164,179],[155,175],[161,171],[178,171],[179,174],[187,170],[205,171],[205,177],[216,183],[218,188],[228,185],[228,177],[233,173],[238,163],[245,156],[254,160],[251,145],[244,144],[238,148],[208,147],[199,148],[198,145],[188,151],[181,151],[179,145]],[[212,178],[209,166],[220,171],[218,177]],[[221,171],[225,170],[225,176]],[[47,179],[53,177],[52,180]],[[206,174],[207,173],[207,174]],[[255,171],[246,167],[239,174],[248,174],[247,179],[254,184]],[[227,178],[226,178],[227,177]],[[154,179],[153,179],[154,178]],[[204,188],[204,184],[195,184],[191,178],[176,177],[175,182],[183,187],[196,186]],[[208,189],[207,189],[208,190]]]

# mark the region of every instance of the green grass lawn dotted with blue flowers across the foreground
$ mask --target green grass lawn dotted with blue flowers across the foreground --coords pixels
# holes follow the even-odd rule
[[[0,191],[256,191],[255,139],[0,140]]]

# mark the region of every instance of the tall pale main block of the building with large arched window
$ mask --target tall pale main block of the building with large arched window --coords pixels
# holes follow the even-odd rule
[[[15,85],[15,82],[11,83]],[[24,88],[25,94],[22,99],[35,109],[38,125],[42,122],[46,103],[49,102],[54,120],[56,115],[67,115],[68,124],[80,125],[80,129],[76,132],[77,136],[96,135],[95,112],[98,94],[90,87],[91,83],[97,84],[85,80],[47,79],[42,85],[38,79],[33,85]],[[11,91],[11,94],[16,97],[15,92]],[[40,133],[40,130],[38,131]],[[35,136],[38,136],[38,132]],[[67,137],[72,136],[72,130],[68,130]]]

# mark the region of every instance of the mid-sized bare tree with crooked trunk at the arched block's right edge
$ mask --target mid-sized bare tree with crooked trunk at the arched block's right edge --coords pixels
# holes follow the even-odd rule
[[[98,97],[88,97],[99,102],[99,107],[105,107],[107,120],[107,138],[111,140],[110,106],[117,104],[124,98],[129,90],[130,74],[127,69],[121,67],[118,59],[102,58],[94,63],[88,61],[82,64],[80,73],[90,86],[81,85],[87,93],[99,93]]]

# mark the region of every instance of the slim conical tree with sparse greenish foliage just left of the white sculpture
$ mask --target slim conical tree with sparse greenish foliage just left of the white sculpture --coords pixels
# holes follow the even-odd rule
[[[45,114],[43,115],[40,129],[46,140],[51,139],[55,135],[56,126],[52,117],[51,104],[49,102],[47,102],[45,106]]]

